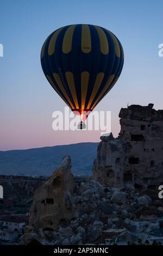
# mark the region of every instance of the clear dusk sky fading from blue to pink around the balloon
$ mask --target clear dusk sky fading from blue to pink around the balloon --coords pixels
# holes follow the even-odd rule
[[[52,112],[65,103],[49,86],[40,64],[43,41],[55,29],[73,23],[105,27],[124,48],[120,79],[96,110],[111,111],[114,136],[118,113],[130,104],[162,109],[162,1],[1,0],[0,150],[99,141],[100,132],[52,130]]]

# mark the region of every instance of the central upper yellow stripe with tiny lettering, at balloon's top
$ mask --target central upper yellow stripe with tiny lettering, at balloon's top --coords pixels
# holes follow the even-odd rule
[[[88,25],[82,25],[82,52],[89,53],[91,51],[91,33]]]

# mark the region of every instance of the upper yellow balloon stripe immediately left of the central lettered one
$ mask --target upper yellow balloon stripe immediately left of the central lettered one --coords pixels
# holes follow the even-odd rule
[[[64,52],[64,53],[71,52],[73,32],[74,32],[74,28],[76,26],[77,25],[71,25],[70,27],[67,28],[67,30],[65,32],[64,40],[62,43],[62,52]]]

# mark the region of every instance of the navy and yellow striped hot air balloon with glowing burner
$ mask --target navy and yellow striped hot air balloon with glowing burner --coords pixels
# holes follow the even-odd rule
[[[41,50],[42,70],[74,113],[80,127],[120,77],[123,48],[108,29],[70,25],[48,36]]]

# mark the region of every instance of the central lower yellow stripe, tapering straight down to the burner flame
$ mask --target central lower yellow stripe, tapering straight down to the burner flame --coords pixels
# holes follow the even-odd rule
[[[87,93],[87,87],[89,84],[90,74],[87,71],[82,72],[81,74],[81,96],[82,96],[82,110],[85,109],[85,99]]]

